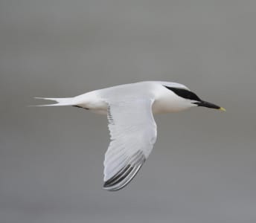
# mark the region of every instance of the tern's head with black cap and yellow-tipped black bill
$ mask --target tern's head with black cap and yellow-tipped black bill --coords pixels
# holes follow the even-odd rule
[[[201,106],[208,109],[217,109],[220,111],[225,111],[223,107],[220,107],[213,103],[208,103],[207,101],[202,100],[195,93],[193,93],[191,90],[185,87],[185,85],[181,85],[181,86],[182,88],[180,86],[179,87],[165,86],[165,87],[168,88],[170,91],[173,91],[173,93],[176,94],[177,96],[181,97],[183,99],[183,102],[186,103],[188,107]]]

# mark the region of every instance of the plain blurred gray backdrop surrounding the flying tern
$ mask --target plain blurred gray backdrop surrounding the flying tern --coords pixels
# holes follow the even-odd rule
[[[256,222],[255,24],[247,0],[1,0],[0,222]],[[150,158],[110,193],[106,117],[27,106],[141,80],[227,111],[156,116]]]

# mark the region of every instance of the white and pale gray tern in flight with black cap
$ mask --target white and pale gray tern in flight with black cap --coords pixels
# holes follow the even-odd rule
[[[36,98],[57,102],[42,106],[74,106],[106,114],[111,141],[105,154],[103,189],[109,191],[129,184],[150,155],[156,142],[153,114],[196,106],[225,111],[202,100],[185,85],[161,81],[117,85],[76,97]]]

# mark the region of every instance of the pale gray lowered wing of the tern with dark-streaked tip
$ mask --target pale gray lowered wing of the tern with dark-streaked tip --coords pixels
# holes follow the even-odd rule
[[[104,160],[103,189],[125,187],[150,155],[156,142],[152,103],[153,100],[109,103],[111,142]]]

